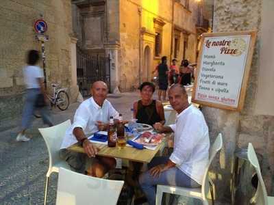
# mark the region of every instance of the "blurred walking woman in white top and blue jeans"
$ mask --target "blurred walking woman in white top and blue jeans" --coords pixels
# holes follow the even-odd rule
[[[46,104],[46,91],[44,87],[44,74],[39,66],[36,66],[40,59],[39,52],[30,50],[27,53],[27,66],[23,69],[23,76],[26,85],[25,103],[23,107],[22,129],[16,137],[16,141],[29,141],[25,131],[32,123],[35,109],[39,109],[42,120],[45,124],[53,126],[49,118],[49,109]]]

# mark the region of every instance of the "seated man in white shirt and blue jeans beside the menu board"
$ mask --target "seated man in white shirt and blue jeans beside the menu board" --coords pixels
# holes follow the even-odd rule
[[[183,85],[175,84],[169,90],[169,101],[177,111],[176,124],[156,123],[158,132],[174,132],[174,150],[171,156],[159,156],[149,163],[149,171],[139,178],[140,186],[150,205],[155,204],[155,186],[166,184],[179,187],[200,187],[206,169],[210,140],[203,113],[189,105]]]

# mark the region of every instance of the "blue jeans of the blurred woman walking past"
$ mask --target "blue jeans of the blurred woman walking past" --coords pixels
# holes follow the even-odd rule
[[[32,118],[34,114],[34,110],[39,109],[40,115],[42,116],[42,120],[44,124],[49,126],[53,126],[51,119],[49,117],[49,109],[47,106],[36,108],[35,102],[37,99],[38,94],[40,94],[40,89],[27,89],[25,103],[23,107],[23,118],[22,118],[22,128],[23,130],[29,128],[32,123]]]

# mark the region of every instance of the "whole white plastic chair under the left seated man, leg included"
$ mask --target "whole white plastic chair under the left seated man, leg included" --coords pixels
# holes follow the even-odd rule
[[[70,169],[69,165],[60,159],[60,147],[63,141],[63,137],[66,133],[66,129],[71,126],[71,120],[66,120],[61,124],[51,126],[49,128],[38,128],[42,137],[45,140],[47,151],[49,152],[49,169],[47,171],[47,180],[45,187],[45,200],[47,203],[47,187],[49,185],[49,176],[52,172],[59,172],[60,167]]]

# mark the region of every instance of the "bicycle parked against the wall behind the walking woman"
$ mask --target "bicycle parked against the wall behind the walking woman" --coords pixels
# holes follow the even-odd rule
[[[58,84],[51,84],[53,87],[53,95],[47,94],[47,98],[49,99],[51,109],[53,107],[58,107],[61,111],[68,109],[69,107],[69,94],[66,92],[66,88],[56,89]],[[38,113],[34,113],[36,118],[41,118],[41,115]]]

